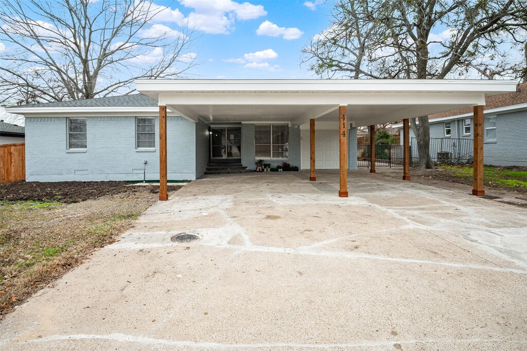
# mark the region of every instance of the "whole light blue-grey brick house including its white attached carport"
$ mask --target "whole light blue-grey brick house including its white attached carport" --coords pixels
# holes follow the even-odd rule
[[[254,168],[264,159],[310,169],[311,180],[316,168],[339,169],[339,195],[347,196],[357,127],[402,118],[407,124],[453,108],[474,108],[480,118],[486,97],[515,87],[474,80],[144,79],[136,81],[141,94],[7,112],[25,116],[26,180],[141,180],[145,172],[160,179],[160,199],[167,199],[167,179],[197,179],[209,163]],[[404,172],[409,179],[409,168]],[[478,178],[476,195],[482,186]]]

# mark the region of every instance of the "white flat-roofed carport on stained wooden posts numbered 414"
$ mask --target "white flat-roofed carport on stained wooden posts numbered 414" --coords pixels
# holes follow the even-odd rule
[[[316,122],[339,125],[339,196],[347,197],[349,127],[403,120],[404,174],[409,180],[409,118],[474,107],[474,182],[483,189],[485,97],[516,89],[515,81],[319,80],[319,79],[147,79],[137,90],[159,103],[160,200],[167,200],[167,109],[193,122],[280,122],[310,125],[310,180],[316,180]],[[373,138],[372,138],[373,140]],[[372,152],[372,172],[375,172]]]

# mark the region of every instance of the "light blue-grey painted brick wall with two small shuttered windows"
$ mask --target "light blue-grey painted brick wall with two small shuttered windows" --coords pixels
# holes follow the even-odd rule
[[[167,121],[168,179],[196,178],[196,124],[182,117]],[[159,121],[155,151],[135,148],[135,117],[87,117],[85,152],[67,150],[66,117],[27,117],[26,180],[159,179]]]

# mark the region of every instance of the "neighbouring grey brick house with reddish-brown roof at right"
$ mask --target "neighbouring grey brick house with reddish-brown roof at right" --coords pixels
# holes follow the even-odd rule
[[[527,82],[519,84],[515,92],[486,98],[483,113],[484,164],[527,166]],[[461,161],[471,158],[472,115],[471,108],[462,108],[428,116],[430,137],[443,139],[443,143],[438,143],[437,139],[432,143],[433,157],[440,153],[444,159],[456,158],[456,154]],[[400,129],[403,125],[395,127]],[[414,137],[412,131],[410,136]],[[417,148],[413,148],[413,152],[416,153]]]

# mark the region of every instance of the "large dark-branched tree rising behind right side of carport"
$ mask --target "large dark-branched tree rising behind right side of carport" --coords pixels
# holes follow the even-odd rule
[[[522,0],[339,0],[331,26],[302,49],[320,76],[375,79],[517,77]],[[433,33],[433,32],[436,33]],[[437,33],[438,32],[438,33]],[[515,68],[516,67],[516,68]],[[428,116],[411,119],[422,167],[433,168]]]

